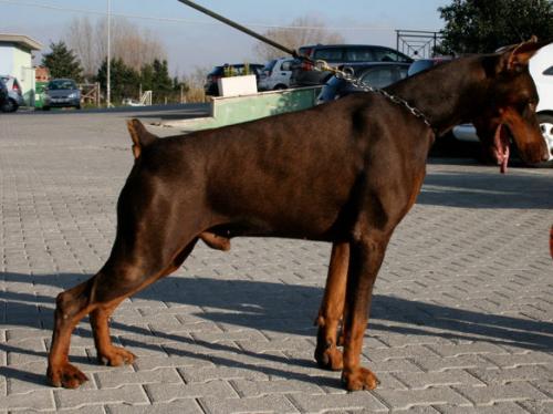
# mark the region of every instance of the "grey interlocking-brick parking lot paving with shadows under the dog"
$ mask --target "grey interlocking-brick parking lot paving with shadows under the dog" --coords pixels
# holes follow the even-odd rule
[[[313,360],[330,245],[249,238],[198,244],[123,302],[133,365],[97,365],[85,320],[71,359],[90,381],[48,386],[54,298],[109,253],[129,115],[0,114],[0,413],[553,413],[553,169],[470,158],[430,158],[393,237],[363,349],[376,391]]]

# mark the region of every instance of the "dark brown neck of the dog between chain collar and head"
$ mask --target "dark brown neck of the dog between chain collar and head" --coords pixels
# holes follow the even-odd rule
[[[483,104],[486,72],[478,58],[460,59],[455,65],[444,63],[386,89],[419,110],[440,135],[463,122]]]

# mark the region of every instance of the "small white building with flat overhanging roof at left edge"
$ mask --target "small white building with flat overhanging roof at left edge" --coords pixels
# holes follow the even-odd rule
[[[0,75],[18,79],[29,105],[34,104],[32,52],[41,49],[41,43],[27,35],[0,33]]]

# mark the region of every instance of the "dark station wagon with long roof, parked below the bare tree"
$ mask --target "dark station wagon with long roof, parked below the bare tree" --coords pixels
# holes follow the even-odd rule
[[[397,50],[369,44],[317,44],[300,49],[300,53],[313,61],[325,61],[331,66],[367,62],[411,63],[413,59]],[[302,59],[292,64],[291,86],[316,86],[324,84],[332,72],[319,71]]]

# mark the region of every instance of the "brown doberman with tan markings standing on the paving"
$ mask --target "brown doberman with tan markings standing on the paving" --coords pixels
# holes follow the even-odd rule
[[[359,365],[373,284],[392,232],[419,194],[435,135],[470,121],[502,170],[510,139],[526,162],[547,159],[528,71],[539,49],[533,39],[387,89],[424,118],[367,92],[163,139],[129,121],[136,159],[117,204],[113,250],[94,277],[58,296],[50,383],[73,389],[86,381],[67,358],[86,314],[98,360],[132,363],[135,355],[112,344],[109,315],[180,267],[199,238],[228,249],[231,237],[268,236],[333,244],[315,359],[342,370],[347,390],[374,389],[376,376]]]

